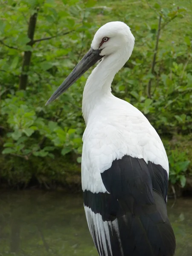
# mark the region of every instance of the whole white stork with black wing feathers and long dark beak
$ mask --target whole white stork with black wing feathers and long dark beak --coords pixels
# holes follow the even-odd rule
[[[112,21],[49,98],[58,98],[97,63],[83,91],[81,183],[88,228],[99,256],[173,256],[167,216],[169,162],[148,119],[111,93],[115,74],[134,49],[128,25]]]

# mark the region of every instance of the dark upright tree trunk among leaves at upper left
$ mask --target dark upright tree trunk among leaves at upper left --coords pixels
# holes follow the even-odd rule
[[[31,47],[34,43],[33,38],[34,38],[34,34],[35,34],[35,26],[36,26],[36,22],[37,22],[37,15],[38,15],[38,9],[36,9],[36,12],[29,19],[29,27],[28,27],[27,35],[28,35],[29,39],[31,39],[31,41],[27,45],[29,45]],[[22,65],[21,76],[20,76],[20,84],[19,84],[19,89],[20,90],[26,90],[27,79],[28,79],[28,71],[29,71],[30,62],[31,62],[31,56],[32,56],[31,51],[25,51],[24,52],[23,65]]]

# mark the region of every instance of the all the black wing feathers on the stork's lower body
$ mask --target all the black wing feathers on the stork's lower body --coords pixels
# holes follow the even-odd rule
[[[101,176],[109,193],[84,191],[84,205],[108,221],[113,255],[108,250],[101,256],[173,256],[175,236],[166,212],[166,170],[125,155]],[[113,228],[115,221],[119,234]]]

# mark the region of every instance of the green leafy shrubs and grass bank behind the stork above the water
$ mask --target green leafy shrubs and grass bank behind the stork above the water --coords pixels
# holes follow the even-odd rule
[[[192,140],[190,1],[1,0],[1,8],[2,183],[79,184],[81,99],[90,71],[51,105],[45,103],[99,26],[121,20],[136,43],[115,76],[113,93],[147,116],[166,146],[170,181],[186,185],[192,174],[192,148],[186,148]]]

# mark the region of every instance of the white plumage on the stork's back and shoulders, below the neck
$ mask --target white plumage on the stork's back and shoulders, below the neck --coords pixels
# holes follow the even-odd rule
[[[91,119],[93,118],[93,119]],[[169,163],[159,135],[137,108],[114,96],[90,115],[83,135],[82,189],[106,192],[100,173],[125,154],[160,164]]]

